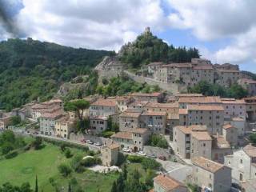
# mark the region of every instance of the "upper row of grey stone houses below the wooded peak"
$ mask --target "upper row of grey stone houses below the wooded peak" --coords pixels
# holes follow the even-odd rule
[[[250,96],[256,94],[256,81],[246,72],[240,71],[238,65],[229,63],[213,65],[203,58],[192,58],[191,62],[186,63],[151,62],[142,66],[141,73],[158,82],[169,85],[179,84],[183,85],[182,87],[194,86],[200,81],[217,83],[225,87],[238,83],[248,90]]]

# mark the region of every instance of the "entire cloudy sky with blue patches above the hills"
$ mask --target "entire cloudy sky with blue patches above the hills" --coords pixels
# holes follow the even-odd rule
[[[0,40],[116,50],[146,26],[213,63],[256,72],[255,0],[0,0]],[[2,12],[2,11],[1,11]]]

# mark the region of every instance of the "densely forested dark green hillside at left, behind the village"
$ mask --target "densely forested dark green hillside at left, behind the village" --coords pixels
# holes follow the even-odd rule
[[[90,68],[110,54],[30,38],[0,42],[0,108],[10,110],[37,98],[49,99],[62,82],[90,74]]]

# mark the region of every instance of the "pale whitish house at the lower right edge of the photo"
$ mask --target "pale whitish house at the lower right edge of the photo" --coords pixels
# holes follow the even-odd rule
[[[256,147],[247,145],[234,154],[225,156],[226,166],[232,168],[232,178],[237,182],[256,179]]]

